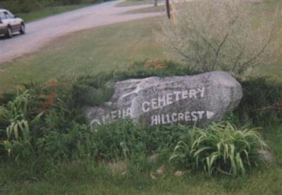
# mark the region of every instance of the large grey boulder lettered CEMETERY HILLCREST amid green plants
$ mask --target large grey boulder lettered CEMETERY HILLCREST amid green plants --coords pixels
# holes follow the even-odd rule
[[[193,76],[147,77],[116,82],[101,107],[84,106],[92,127],[118,118],[150,125],[182,122],[206,125],[221,120],[243,96],[239,82],[225,72]]]

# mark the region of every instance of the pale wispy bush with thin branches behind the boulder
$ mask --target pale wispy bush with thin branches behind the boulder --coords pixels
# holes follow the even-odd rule
[[[266,15],[260,9],[244,1],[186,2],[173,6],[172,20],[164,21],[159,37],[195,70],[242,75],[277,59],[281,10]]]

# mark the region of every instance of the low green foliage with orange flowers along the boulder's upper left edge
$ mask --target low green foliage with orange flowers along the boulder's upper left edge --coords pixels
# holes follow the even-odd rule
[[[78,104],[99,106],[111,98],[113,84],[116,81],[152,76],[194,75],[195,73],[197,72],[192,71],[188,66],[173,61],[138,61],[130,65],[126,71],[78,77],[73,84],[73,98]]]

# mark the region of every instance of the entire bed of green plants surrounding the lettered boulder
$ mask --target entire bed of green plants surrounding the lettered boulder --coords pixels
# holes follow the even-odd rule
[[[147,171],[148,156],[157,155],[159,162],[167,163],[174,150],[173,165],[205,170],[209,175],[214,172],[245,175],[259,163],[257,150],[267,148],[255,130],[237,130],[228,123],[200,129],[184,125],[137,125],[131,120],[118,120],[95,130],[85,125],[80,106],[99,106],[108,101],[114,82],[192,74],[195,72],[187,66],[156,60],[133,63],[127,71],[81,76],[75,82],[51,80],[45,84],[25,84],[22,92],[3,98],[0,156],[10,156],[13,158],[8,159],[16,158],[19,162],[28,161],[31,156],[55,162],[130,161],[133,163],[130,170],[135,172]],[[247,94],[240,105],[242,109],[231,113],[227,120],[256,118],[257,113],[248,113],[251,108],[272,105],[279,100],[278,84],[274,86],[266,80],[249,80],[242,84]],[[274,114],[274,110],[267,115],[270,113]],[[269,117],[267,115],[263,117]]]

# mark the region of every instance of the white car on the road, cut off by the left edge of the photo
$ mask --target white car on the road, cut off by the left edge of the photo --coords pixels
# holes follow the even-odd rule
[[[0,34],[13,37],[14,32],[25,34],[25,23],[6,9],[0,9]]]

